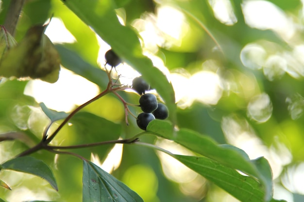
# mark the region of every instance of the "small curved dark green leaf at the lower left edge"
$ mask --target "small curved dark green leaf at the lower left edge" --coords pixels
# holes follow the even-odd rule
[[[50,185],[58,191],[56,180],[50,167],[43,161],[32,156],[22,156],[8,160],[1,165],[1,169],[36,175],[48,181]]]

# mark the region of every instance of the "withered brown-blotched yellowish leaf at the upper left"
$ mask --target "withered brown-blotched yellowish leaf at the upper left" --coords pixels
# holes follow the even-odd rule
[[[54,83],[59,78],[60,57],[44,34],[46,26],[31,27],[17,46],[6,51],[0,61],[0,76],[39,78]]]

